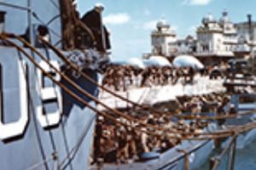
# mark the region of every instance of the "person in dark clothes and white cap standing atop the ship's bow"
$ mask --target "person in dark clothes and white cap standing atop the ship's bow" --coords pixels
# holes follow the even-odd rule
[[[84,37],[84,42],[88,48],[94,48],[100,52],[106,53],[110,49],[109,32],[102,24],[102,11],[104,6],[102,3],[96,3],[95,7],[84,14],[82,21],[90,28],[96,38],[96,42],[92,42],[90,37]],[[88,39],[89,38],[89,39]]]

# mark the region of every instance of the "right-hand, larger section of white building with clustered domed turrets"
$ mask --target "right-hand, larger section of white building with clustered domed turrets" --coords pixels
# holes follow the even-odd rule
[[[224,11],[219,20],[208,14],[196,30],[195,56],[205,61],[225,61],[234,57],[245,57],[255,47],[256,23],[248,15],[246,22],[233,24]]]

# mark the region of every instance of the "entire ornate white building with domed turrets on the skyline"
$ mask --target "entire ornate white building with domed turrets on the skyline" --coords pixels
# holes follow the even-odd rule
[[[250,54],[256,47],[256,22],[247,15],[247,21],[234,24],[224,10],[220,19],[207,14],[196,29],[196,38],[177,39],[175,31],[166,20],[160,20],[151,32],[153,55],[173,57],[194,54],[202,61],[212,63]]]

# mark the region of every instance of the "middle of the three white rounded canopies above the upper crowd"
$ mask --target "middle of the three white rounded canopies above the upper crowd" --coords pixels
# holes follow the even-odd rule
[[[149,59],[143,60],[143,63],[147,66],[172,66],[168,59],[161,56],[151,56]]]

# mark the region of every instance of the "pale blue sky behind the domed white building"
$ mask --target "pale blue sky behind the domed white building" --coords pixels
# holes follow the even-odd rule
[[[195,35],[203,16],[210,13],[219,19],[224,9],[233,22],[247,20],[248,13],[256,20],[255,0],[79,0],[80,15],[95,3],[105,7],[103,20],[111,33],[113,60],[140,58],[150,52],[150,32],[162,17],[178,38]]]

